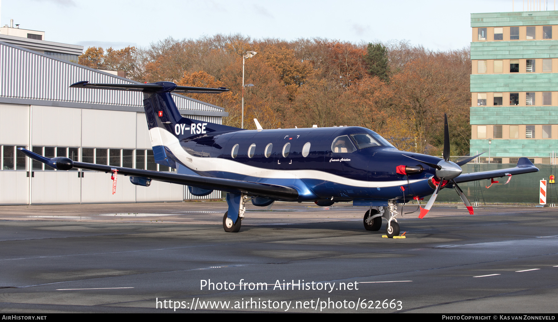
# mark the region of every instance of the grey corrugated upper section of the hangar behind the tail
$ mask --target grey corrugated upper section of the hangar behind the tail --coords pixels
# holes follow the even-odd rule
[[[143,111],[141,92],[68,87],[84,80],[94,83],[140,84],[102,70],[0,42],[0,103]],[[172,95],[181,114],[228,116],[220,106],[179,94]]]

